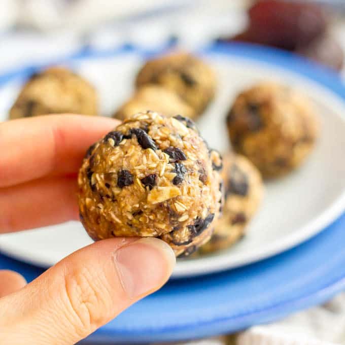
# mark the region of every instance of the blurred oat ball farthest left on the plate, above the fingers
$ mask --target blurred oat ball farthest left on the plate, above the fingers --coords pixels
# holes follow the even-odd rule
[[[95,89],[67,68],[51,67],[34,74],[10,110],[10,119],[44,114],[97,114]]]

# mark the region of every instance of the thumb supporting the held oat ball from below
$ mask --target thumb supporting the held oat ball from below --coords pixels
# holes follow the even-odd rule
[[[159,289],[175,264],[153,237],[85,247],[0,299],[0,344],[71,344]]]

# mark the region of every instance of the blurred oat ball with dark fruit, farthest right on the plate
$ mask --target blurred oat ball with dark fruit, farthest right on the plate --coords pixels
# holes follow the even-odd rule
[[[284,175],[300,165],[319,131],[311,102],[273,83],[240,93],[228,113],[227,127],[234,150],[247,156],[265,178]]]

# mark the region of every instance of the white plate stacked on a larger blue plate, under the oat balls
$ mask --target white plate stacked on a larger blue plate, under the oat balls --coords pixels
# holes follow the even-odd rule
[[[301,89],[315,102],[320,140],[300,169],[266,184],[265,200],[245,239],[229,250],[179,261],[160,291],[96,331],[92,341],[168,341],[236,331],[320,303],[345,288],[342,82],[330,71],[277,50],[235,44],[199,53],[219,80],[218,96],[199,121],[210,146],[227,148],[224,117],[236,93],[267,79]],[[63,62],[96,86],[102,113],[110,114],[130,94],[134,73],[146,57],[143,51],[123,49]],[[29,71],[0,76],[0,114],[7,113]],[[89,243],[78,222],[1,235],[5,255],[0,255],[0,268],[32,280],[43,271],[39,267]]]

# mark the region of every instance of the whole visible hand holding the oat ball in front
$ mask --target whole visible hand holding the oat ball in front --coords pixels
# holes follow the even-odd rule
[[[0,233],[78,219],[83,156],[116,125],[78,115],[0,124]],[[0,344],[75,343],[159,289],[174,264],[171,248],[157,238],[112,238],[27,285],[19,274],[0,271]]]

